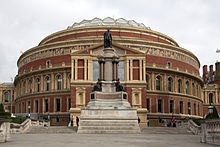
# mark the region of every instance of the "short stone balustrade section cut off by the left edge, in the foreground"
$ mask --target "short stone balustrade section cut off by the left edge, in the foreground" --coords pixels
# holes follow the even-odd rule
[[[0,118],[0,142],[10,140],[10,120]]]

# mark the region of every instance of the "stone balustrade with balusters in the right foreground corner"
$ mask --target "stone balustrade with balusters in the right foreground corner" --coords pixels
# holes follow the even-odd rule
[[[205,120],[202,122],[200,141],[220,145],[220,119]]]

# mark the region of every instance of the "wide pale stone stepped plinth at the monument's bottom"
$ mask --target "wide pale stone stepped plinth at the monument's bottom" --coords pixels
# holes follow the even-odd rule
[[[80,134],[140,133],[136,109],[88,109],[81,111]]]

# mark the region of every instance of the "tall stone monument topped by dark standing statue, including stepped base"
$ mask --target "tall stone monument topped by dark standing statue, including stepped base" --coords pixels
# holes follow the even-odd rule
[[[88,105],[81,108],[78,133],[140,133],[137,110],[131,107],[118,79],[118,60],[108,29],[104,54],[98,57],[99,79]]]

